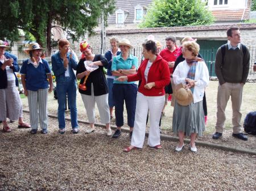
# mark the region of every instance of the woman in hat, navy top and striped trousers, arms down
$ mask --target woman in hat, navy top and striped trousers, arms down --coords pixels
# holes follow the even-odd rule
[[[20,69],[24,95],[28,98],[30,108],[31,134],[38,131],[38,122],[41,133],[48,132],[47,97],[48,92],[52,91],[52,74],[49,63],[40,58],[42,49],[38,43],[31,43],[25,50],[30,58],[22,63]]]

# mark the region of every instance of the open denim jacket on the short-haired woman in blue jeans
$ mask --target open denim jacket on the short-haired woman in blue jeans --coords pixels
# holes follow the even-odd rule
[[[71,79],[76,80],[76,75],[73,70],[76,70],[77,68],[77,62],[73,58],[69,58],[69,54],[67,55],[68,58],[68,69],[69,69],[69,77]],[[57,52],[56,54],[53,54],[51,57],[52,60],[52,71],[56,77],[56,82],[64,82],[65,80],[65,69],[63,65],[63,60],[60,58],[60,53]]]

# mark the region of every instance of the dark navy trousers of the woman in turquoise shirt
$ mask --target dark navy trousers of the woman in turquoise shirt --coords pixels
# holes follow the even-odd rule
[[[113,85],[113,97],[115,104],[115,125],[123,126],[123,104],[125,101],[127,111],[127,124],[130,128],[134,126],[137,84],[118,84]]]

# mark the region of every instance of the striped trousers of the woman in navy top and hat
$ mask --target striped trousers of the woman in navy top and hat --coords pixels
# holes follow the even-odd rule
[[[38,120],[41,129],[48,127],[47,99],[48,88],[38,91],[28,90],[28,107],[30,108],[30,125],[32,129],[38,129]]]

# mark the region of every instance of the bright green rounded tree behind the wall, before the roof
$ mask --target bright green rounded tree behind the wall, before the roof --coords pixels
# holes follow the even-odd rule
[[[212,13],[201,0],[155,0],[139,27],[198,26],[213,21]]]

